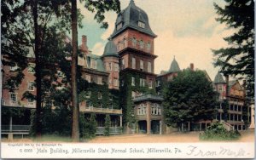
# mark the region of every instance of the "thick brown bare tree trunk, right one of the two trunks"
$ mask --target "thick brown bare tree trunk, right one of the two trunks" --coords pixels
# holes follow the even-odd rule
[[[77,0],[72,0],[71,20],[72,20],[72,62],[71,62],[71,86],[72,86],[72,106],[73,123],[72,139],[79,141],[79,98],[77,89],[77,65],[78,65],[78,20],[77,20]]]

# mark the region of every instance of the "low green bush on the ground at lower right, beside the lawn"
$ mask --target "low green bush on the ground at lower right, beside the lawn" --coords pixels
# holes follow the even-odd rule
[[[241,134],[237,130],[224,128],[222,123],[215,122],[207,128],[207,130],[199,135],[200,140],[238,140]]]

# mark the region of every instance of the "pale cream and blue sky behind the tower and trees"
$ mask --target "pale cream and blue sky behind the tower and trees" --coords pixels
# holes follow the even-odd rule
[[[130,0],[120,0],[125,9]],[[224,24],[215,20],[218,17],[213,3],[223,6],[222,0],[134,0],[137,7],[148,14],[149,25],[157,35],[154,39],[154,73],[169,70],[175,56],[180,69],[194,63],[195,69],[206,70],[212,81],[218,68],[212,65],[214,59],[211,49],[220,49],[228,44],[223,37],[232,34]],[[84,27],[79,28],[79,44],[82,35],[87,36],[88,47],[92,54],[102,55],[108,37],[113,33],[117,17],[115,12],[105,14],[108,29],[101,29],[94,20],[94,14],[78,8],[84,14]]]

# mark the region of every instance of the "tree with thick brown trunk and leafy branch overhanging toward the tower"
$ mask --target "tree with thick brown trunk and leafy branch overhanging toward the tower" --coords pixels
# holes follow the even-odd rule
[[[72,139],[73,141],[79,141],[79,96],[78,96],[78,86],[77,86],[77,65],[78,65],[78,30],[77,30],[77,1],[72,0],[72,66],[71,66],[71,85],[72,85],[72,106],[73,106],[73,124],[72,124]],[[104,22],[104,13],[109,10],[119,12],[120,3],[119,0],[108,0],[108,1],[95,1],[86,0],[84,7],[90,12],[95,12],[95,20],[102,24],[102,28],[108,28],[108,23]]]

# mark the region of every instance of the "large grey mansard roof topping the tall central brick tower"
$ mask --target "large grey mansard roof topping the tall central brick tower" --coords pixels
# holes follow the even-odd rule
[[[140,26],[139,26],[140,25]],[[115,28],[110,38],[115,37],[120,32],[127,28],[132,28],[137,31],[156,37],[148,23],[148,14],[143,9],[138,8],[134,1],[131,0],[128,7],[122,10],[115,21]]]

